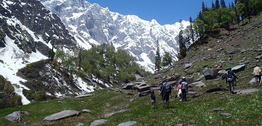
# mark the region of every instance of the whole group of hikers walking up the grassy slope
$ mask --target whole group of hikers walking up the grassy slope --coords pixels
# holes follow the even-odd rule
[[[226,69],[226,78],[225,81],[228,83],[229,90],[231,94],[235,94],[235,86],[237,85],[236,79],[238,79],[236,73],[232,71],[231,68]],[[257,86],[257,81],[262,82],[261,76],[261,68],[258,64],[256,64],[256,67],[254,68],[253,76],[255,78],[255,85]],[[169,105],[169,96],[171,95],[172,87],[166,82],[162,81],[161,87],[160,87],[160,95],[162,100],[162,108],[168,109]],[[178,85],[178,97],[180,98],[180,101],[187,101],[186,100],[186,94],[188,93],[188,84],[186,82],[185,77],[182,77],[182,80],[179,82]],[[154,93],[154,90],[151,91],[151,103],[152,103],[152,109],[156,106],[156,95]],[[171,96],[172,97],[172,96]]]

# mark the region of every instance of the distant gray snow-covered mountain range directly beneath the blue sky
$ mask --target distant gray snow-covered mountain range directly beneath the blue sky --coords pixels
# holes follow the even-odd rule
[[[180,23],[161,26],[155,19],[145,21],[138,16],[123,16],[85,0],[40,0],[57,14],[78,44],[88,49],[92,45],[113,44],[125,49],[143,66],[153,71],[156,41],[160,52],[169,52],[177,60]],[[186,28],[188,21],[181,22]]]

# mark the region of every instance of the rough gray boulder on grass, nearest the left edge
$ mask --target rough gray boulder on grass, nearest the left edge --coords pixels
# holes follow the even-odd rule
[[[29,115],[29,112],[27,112],[27,111],[15,111],[15,112],[5,116],[4,118],[13,122],[13,123],[16,123],[16,122],[22,122],[24,115]]]

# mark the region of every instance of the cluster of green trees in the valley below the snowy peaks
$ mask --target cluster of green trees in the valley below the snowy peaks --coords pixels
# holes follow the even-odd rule
[[[58,47],[56,52],[53,52],[53,49],[50,52],[49,59],[55,69],[63,73],[70,83],[76,80],[73,78],[74,74],[83,79],[96,78],[113,84],[136,80],[136,74],[150,74],[135,62],[134,57],[113,45],[101,44],[88,50],[80,49],[78,54],[64,51],[63,47]]]

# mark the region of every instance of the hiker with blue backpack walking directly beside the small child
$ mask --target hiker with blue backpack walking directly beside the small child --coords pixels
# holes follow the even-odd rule
[[[163,109],[168,109],[168,104],[169,104],[169,94],[171,94],[172,87],[164,81],[163,85],[161,86],[161,93],[163,93],[162,96],[162,104],[163,104]],[[166,104],[166,106],[165,106]]]

